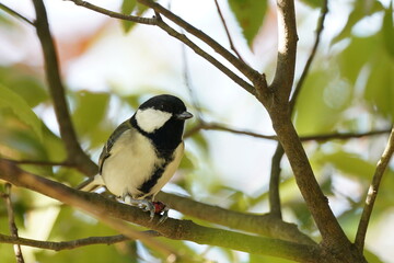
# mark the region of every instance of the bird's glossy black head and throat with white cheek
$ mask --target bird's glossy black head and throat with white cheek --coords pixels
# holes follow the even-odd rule
[[[142,103],[131,117],[131,124],[150,138],[157,148],[174,150],[182,141],[184,123],[193,117],[182,100],[158,95]]]

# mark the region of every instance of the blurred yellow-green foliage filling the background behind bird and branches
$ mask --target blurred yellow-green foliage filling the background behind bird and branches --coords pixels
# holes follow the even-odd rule
[[[301,2],[306,3],[313,12],[322,5],[323,0],[302,0]],[[326,43],[323,43],[328,52],[318,53],[300,93],[294,124],[301,135],[335,132],[360,133],[387,128],[393,123],[393,2],[391,1],[390,5],[384,5],[381,1],[354,0],[347,3],[350,8],[349,15],[344,15],[347,23],[337,31],[333,39],[326,39]],[[266,16],[270,8],[268,1],[229,0],[228,4],[242,30],[242,36],[251,46],[263,22],[268,19]],[[135,15],[141,15],[147,11],[136,0],[124,0],[120,9],[125,14]],[[375,22],[380,23],[378,28],[368,34],[360,34],[357,26],[372,16],[380,18]],[[131,22],[123,21],[121,23],[126,33],[134,28]],[[326,21],[326,27],[329,26],[327,23],[329,21]],[[1,12],[0,27],[14,30],[18,28],[18,23]],[[160,87],[150,87],[148,92],[115,94],[112,91],[103,92],[74,87],[69,89],[67,96],[71,116],[83,149],[93,159],[97,158],[112,130],[124,121],[117,110],[126,108],[130,115],[141,100],[159,92],[164,91]],[[14,160],[63,161],[65,146],[59,137],[57,125],[54,125],[50,119],[53,114],[53,102],[43,80],[42,69],[26,61],[25,64],[4,64],[0,67],[1,157]],[[193,128],[194,125],[197,123],[189,122],[187,129]],[[198,201],[219,204],[239,211],[255,211],[256,208],[262,211],[268,198],[267,183],[256,182],[262,184],[259,193],[245,193],[215,176],[217,171],[210,157],[212,142],[208,136],[208,133],[197,133],[188,138],[190,149],[181,163],[179,175],[175,176],[173,182],[184,194],[196,197]],[[324,193],[334,203],[341,204],[338,218],[349,237],[354,237],[356,232],[364,192],[384,144],[384,138],[378,137],[304,144]],[[282,167],[281,194],[285,218],[297,222],[300,229],[315,237],[316,228],[297,190],[289,164],[283,162]],[[25,164],[23,168],[70,185],[77,185],[83,180],[83,175],[72,168],[33,164]],[[269,173],[269,171],[263,172]],[[358,192],[340,188],[338,180],[348,180],[346,182],[351,182],[349,185],[358,188]],[[393,188],[392,167],[385,174],[371,224],[381,220],[393,207]],[[95,219],[70,207],[59,204],[50,204],[48,207],[37,206],[42,197],[30,191],[13,188],[12,193],[16,224],[23,236],[27,235],[26,229],[31,228],[33,219],[37,217],[36,211],[48,207],[58,209],[51,215],[54,224],[48,225],[48,240],[62,241],[90,236],[116,235]],[[2,233],[9,232],[7,220],[7,210],[3,205],[0,205]],[[209,225],[195,218],[193,220]],[[318,237],[315,238],[318,240]],[[247,255],[244,260],[244,255],[239,259],[239,254],[223,248],[201,249],[189,242],[165,239],[161,241],[189,254],[197,262],[211,259],[210,253],[220,254],[220,259],[228,262],[290,262],[260,255]],[[0,251],[2,262],[14,261],[12,245],[0,244]],[[139,242],[91,245],[61,252],[28,251],[36,262],[90,262],[93,258],[97,263],[160,261],[160,255]],[[371,251],[367,251],[366,255],[369,262],[382,262]]]

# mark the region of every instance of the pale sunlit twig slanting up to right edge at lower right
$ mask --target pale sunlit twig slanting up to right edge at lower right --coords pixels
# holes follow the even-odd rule
[[[394,128],[392,129],[392,132],[390,134],[387,145],[384,149],[384,152],[383,152],[381,159],[378,162],[371,185],[368,190],[366,205],[362,210],[361,219],[360,219],[360,222],[359,222],[359,226],[357,229],[357,235],[356,235],[356,240],[355,240],[355,244],[359,249],[359,251],[363,250],[364,242],[366,242],[367,229],[368,229],[368,225],[369,225],[369,221],[371,218],[373,205],[374,205],[374,202],[378,196],[379,186],[382,181],[384,171],[393,156],[393,152],[394,152]]]

